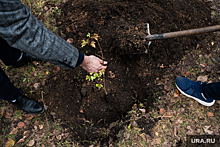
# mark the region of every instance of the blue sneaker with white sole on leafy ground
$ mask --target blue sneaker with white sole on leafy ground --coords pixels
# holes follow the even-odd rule
[[[205,106],[212,106],[215,103],[214,99],[207,99],[202,92],[204,82],[194,82],[184,77],[176,78],[177,89],[187,97],[193,98],[197,102]]]

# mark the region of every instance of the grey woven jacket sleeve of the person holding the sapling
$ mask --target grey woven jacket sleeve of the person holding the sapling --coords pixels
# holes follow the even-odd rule
[[[62,68],[74,68],[80,55],[75,47],[49,31],[20,0],[0,0],[0,37],[10,46]]]

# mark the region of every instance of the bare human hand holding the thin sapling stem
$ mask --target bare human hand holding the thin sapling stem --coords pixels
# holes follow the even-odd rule
[[[80,66],[85,69],[89,73],[98,72],[99,70],[106,69],[107,62],[99,59],[96,56],[90,55],[90,56],[84,56],[84,60]]]

